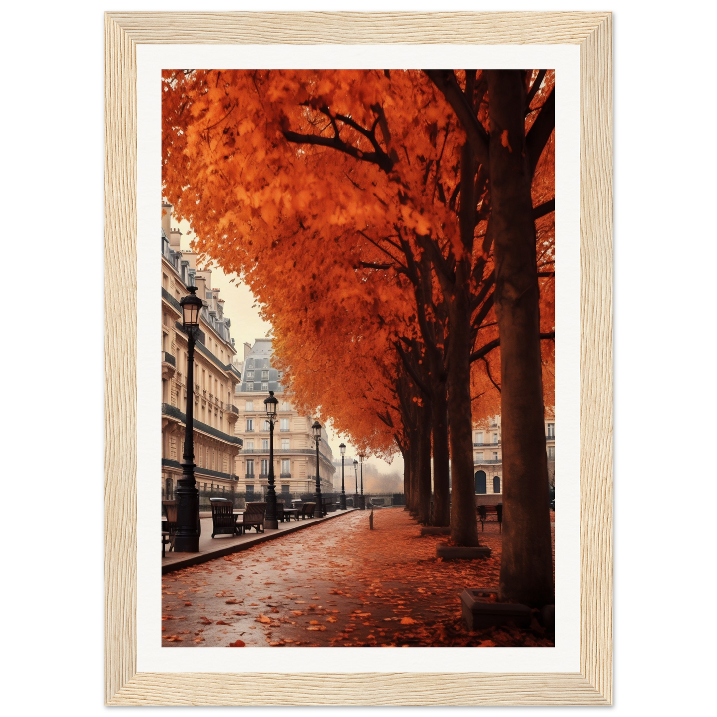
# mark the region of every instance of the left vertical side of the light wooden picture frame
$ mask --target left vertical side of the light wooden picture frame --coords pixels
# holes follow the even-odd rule
[[[105,684],[137,671],[137,65],[105,18]]]

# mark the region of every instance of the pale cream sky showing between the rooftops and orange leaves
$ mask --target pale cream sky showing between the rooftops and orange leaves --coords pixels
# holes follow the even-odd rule
[[[172,217],[171,225],[172,227],[179,226],[179,231],[182,233],[181,248],[189,250],[189,242],[194,238],[194,232],[191,231],[189,224],[187,222],[177,224],[174,217]],[[229,281],[232,279],[234,279],[234,283],[230,284]],[[234,339],[234,344],[237,347],[237,358],[241,360],[244,356],[244,349],[242,348],[244,342],[253,344],[256,338],[268,336],[272,326],[260,317],[258,308],[252,308],[252,304],[255,303],[254,295],[252,295],[247,285],[239,281],[236,275],[226,275],[221,269],[213,268],[212,288],[219,289],[219,298],[224,299],[224,315],[232,320],[229,335]],[[351,442],[346,440],[345,436],[337,435],[333,432],[331,422],[326,426],[326,432],[331,443],[334,460],[341,459],[338,445],[342,441],[346,443],[347,459],[349,456],[353,459],[353,456],[357,455]],[[346,465],[348,466],[349,463],[350,461],[347,460]],[[404,462],[400,453],[394,455],[394,460],[390,465],[379,458],[368,458],[366,459],[366,464],[375,465],[379,473],[399,473],[403,475]]]

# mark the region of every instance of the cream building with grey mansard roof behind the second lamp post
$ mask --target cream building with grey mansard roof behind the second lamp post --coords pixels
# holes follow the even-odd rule
[[[244,344],[242,381],[237,384],[234,403],[239,420],[234,436],[242,440],[243,449],[237,457],[239,490],[249,496],[265,495],[269,485],[270,429],[266,418],[265,399],[274,391],[278,400],[274,427],[274,476],[276,492],[287,495],[313,493],[315,490],[316,449],[311,434],[313,417],[301,415],[290,401],[281,384],[282,372],[272,366],[272,340],[257,338],[253,346]],[[321,429],[319,443],[319,478],[321,491],[334,492],[333,453],[326,430]],[[339,476],[341,480],[341,476]]]

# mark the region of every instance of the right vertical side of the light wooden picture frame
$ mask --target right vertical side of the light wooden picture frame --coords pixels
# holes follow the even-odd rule
[[[612,700],[612,16],[580,46],[581,668]]]

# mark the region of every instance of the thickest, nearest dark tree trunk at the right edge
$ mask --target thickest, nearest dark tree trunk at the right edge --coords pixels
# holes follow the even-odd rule
[[[500,599],[539,607],[554,603],[555,593],[526,97],[520,71],[487,74],[503,423]]]

